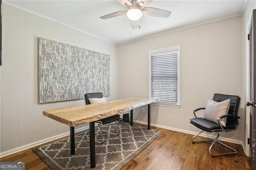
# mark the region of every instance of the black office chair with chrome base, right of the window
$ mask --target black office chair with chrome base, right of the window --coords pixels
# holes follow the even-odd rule
[[[205,109],[205,108],[198,108],[193,111],[195,118],[190,119],[190,123],[192,123],[194,126],[200,128],[202,131],[200,131],[198,134],[192,137],[192,143],[196,142],[206,142],[207,141],[213,141],[212,144],[210,145],[209,151],[212,156],[221,156],[221,155],[226,155],[226,154],[236,154],[237,151],[234,148],[231,148],[230,146],[218,141],[219,138],[219,133],[218,132],[229,132],[236,130],[239,126],[239,121],[240,117],[238,117],[238,110],[239,110],[239,104],[240,104],[240,97],[239,96],[234,96],[234,95],[222,95],[222,94],[214,94],[214,97],[212,100],[221,102],[226,99],[230,99],[230,109],[228,111],[227,115],[220,116],[217,121],[218,123],[214,123],[212,121],[205,120],[203,118],[198,118],[196,117],[196,111]],[[226,127],[222,126],[220,123],[221,120],[226,118]],[[215,139],[206,139],[206,140],[196,140],[194,141],[194,138],[201,134],[202,132],[214,132],[217,134],[217,137]],[[223,146],[226,146],[227,148],[231,149],[234,152],[228,152],[228,153],[221,153],[221,154],[212,154],[211,149],[212,146],[215,144],[215,142],[218,142],[222,144]]]

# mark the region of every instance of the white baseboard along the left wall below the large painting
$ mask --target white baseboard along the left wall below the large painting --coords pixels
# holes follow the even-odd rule
[[[82,130],[86,130],[88,129],[89,126],[85,126],[85,127],[81,127],[81,128],[77,128],[75,129],[75,133],[76,132],[81,132]],[[14,149],[11,149],[11,150],[7,150],[7,151],[4,151],[4,152],[1,152],[0,153],[0,158],[4,157],[4,156],[8,156],[8,155],[11,155],[11,154],[15,154],[17,152],[20,152],[22,150],[26,150],[26,149],[29,149],[29,148],[33,148],[35,146],[38,146],[40,144],[44,144],[46,142],[50,142],[52,140],[56,140],[58,138],[62,138],[62,137],[65,137],[65,136],[68,136],[70,135],[70,132],[65,132],[65,133],[62,133],[62,134],[58,134],[56,136],[52,136],[50,138],[46,138],[46,139],[43,139],[43,140],[39,140],[39,141],[36,141],[36,142],[32,142],[30,144],[26,144],[26,145],[23,145],[23,146],[20,146],[20,147],[17,147],[17,148],[14,148]]]

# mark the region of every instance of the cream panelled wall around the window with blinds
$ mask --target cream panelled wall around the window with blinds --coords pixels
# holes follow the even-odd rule
[[[151,123],[198,132],[198,128],[189,123],[192,111],[205,107],[214,93],[242,97],[241,23],[238,16],[120,45],[119,98],[148,97],[148,51],[180,45],[181,107],[152,105]],[[134,111],[135,118],[139,111]],[[138,120],[146,122],[147,114],[141,114]],[[241,127],[236,132],[226,132],[225,137],[239,143]]]

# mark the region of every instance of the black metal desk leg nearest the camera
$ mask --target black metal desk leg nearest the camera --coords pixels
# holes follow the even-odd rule
[[[95,132],[94,132],[94,122],[90,122],[90,161],[91,168],[94,168],[95,165]]]

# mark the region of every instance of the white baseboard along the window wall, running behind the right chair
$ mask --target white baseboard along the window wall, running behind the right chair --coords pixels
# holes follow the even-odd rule
[[[147,122],[142,122],[142,121],[136,121],[137,123],[141,123],[143,125],[148,125]],[[190,130],[184,130],[184,129],[179,129],[179,128],[173,128],[173,127],[166,127],[166,126],[162,126],[162,125],[157,125],[154,123],[150,123],[150,125],[154,126],[154,127],[160,127],[160,128],[164,128],[164,129],[168,129],[168,130],[174,130],[177,132],[182,132],[182,133],[187,133],[187,134],[197,134],[198,132],[194,132],[194,131],[190,131]],[[200,134],[198,136],[202,136],[202,137],[206,137],[206,138],[216,138],[216,136],[214,135],[210,135],[210,134]],[[234,140],[234,139],[230,139],[230,138],[224,138],[224,137],[219,137],[220,140],[225,141],[225,142],[231,142],[231,143],[235,143],[235,144],[241,144],[243,146],[243,142],[240,140]],[[243,146],[243,149],[245,147]],[[245,151],[245,150],[244,150]],[[245,152],[244,152],[245,153]]]

